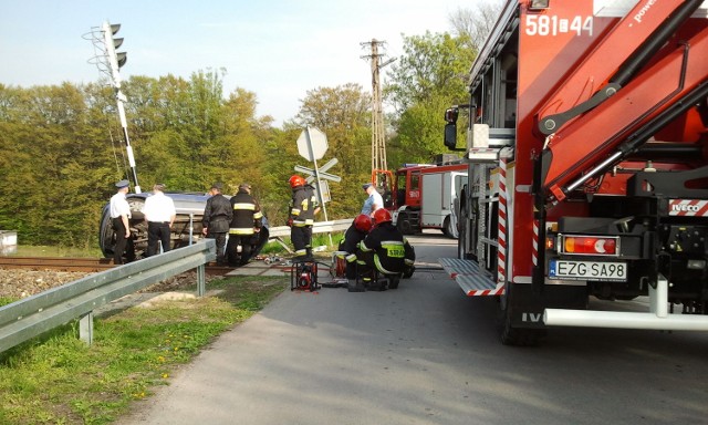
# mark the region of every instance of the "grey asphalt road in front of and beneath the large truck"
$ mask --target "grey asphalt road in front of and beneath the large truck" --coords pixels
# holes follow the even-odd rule
[[[420,262],[454,257],[410,238]],[[493,299],[428,267],[399,289],[285,291],[119,424],[704,424],[708,334],[556,328],[499,343]]]

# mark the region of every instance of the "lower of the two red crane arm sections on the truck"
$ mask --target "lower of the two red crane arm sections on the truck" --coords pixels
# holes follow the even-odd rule
[[[636,75],[617,95],[566,124],[542,154],[542,188],[562,200],[582,174],[606,168],[631,151],[628,136],[669,113],[694,106],[708,82],[708,28]],[[693,94],[693,96],[691,96]],[[679,106],[684,106],[681,110]],[[622,152],[627,151],[627,152]]]

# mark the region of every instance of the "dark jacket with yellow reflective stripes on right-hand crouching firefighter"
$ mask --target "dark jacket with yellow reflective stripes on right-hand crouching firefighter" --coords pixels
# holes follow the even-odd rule
[[[384,274],[400,273],[415,261],[413,247],[391,221],[374,227],[360,247],[374,251],[374,266]]]

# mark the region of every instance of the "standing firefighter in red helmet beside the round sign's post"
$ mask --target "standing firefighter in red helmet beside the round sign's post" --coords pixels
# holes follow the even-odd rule
[[[296,259],[312,259],[312,226],[314,215],[320,211],[314,188],[305,184],[301,176],[293,175],[288,180],[292,188],[288,226],[290,226],[290,239],[295,248]]]

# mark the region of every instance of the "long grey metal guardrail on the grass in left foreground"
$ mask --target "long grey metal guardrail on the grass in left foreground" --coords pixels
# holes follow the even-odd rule
[[[93,311],[160,280],[197,268],[197,294],[206,293],[205,265],[216,260],[206,239],[50,289],[0,307],[0,352],[79,318],[79,336],[93,342]]]

